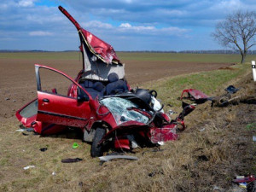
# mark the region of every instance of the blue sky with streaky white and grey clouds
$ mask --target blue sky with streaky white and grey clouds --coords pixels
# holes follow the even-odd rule
[[[84,29],[117,51],[224,49],[212,38],[218,21],[255,0],[1,0],[0,49],[79,50]]]

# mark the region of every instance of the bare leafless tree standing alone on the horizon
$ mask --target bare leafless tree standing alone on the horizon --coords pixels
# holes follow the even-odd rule
[[[255,33],[256,13],[238,10],[218,22],[212,36],[224,47],[239,50],[241,63],[244,63],[248,49],[256,44]]]

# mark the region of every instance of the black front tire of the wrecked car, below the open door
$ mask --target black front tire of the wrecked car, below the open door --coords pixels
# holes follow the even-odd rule
[[[103,150],[102,145],[98,145],[98,143],[102,140],[102,137],[106,134],[106,130],[102,127],[96,128],[95,136],[92,140],[90,155],[92,157],[102,156]]]

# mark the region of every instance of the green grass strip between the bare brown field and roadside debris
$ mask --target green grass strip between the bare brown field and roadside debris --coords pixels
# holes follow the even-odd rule
[[[193,88],[201,90],[208,96],[212,96],[220,86],[227,86],[232,79],[237,79],[239,76],[247,73],[250,67],[249,64],[236,65],[232,67],[236,70],[216,70],[182,75],[172,79],[150,82],[145,84],[145,86],[148,89],[156,90],[162,102],[171,103],[177,107],[180,105],[177,97],[181,96],[182,90]]]

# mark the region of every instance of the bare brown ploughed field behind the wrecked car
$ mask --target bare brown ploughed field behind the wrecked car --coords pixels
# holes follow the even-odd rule
[[[124,61],[126,79],[131,86],[147,81],[185,73],[211,71],[229,67],[229,63],[197,63],[173,61]],[[82,68],[81,61],[0,60],[0,120],[15,115],[15,111],[37,96],[34,63],[54,67],[72,78]],[[47,77],[49,81],[53,77]]]

